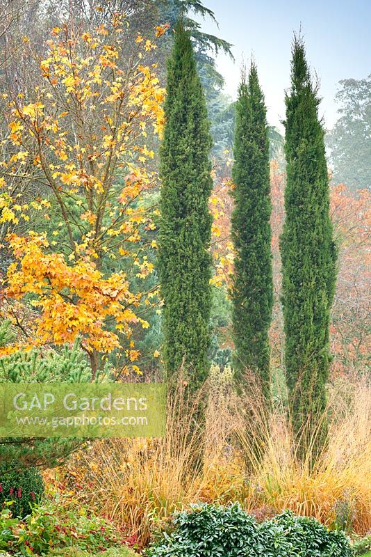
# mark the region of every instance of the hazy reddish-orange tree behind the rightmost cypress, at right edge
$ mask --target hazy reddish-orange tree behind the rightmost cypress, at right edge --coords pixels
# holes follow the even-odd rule
[[[331,187],[331,218],[339,246],[338,281],[331,320],[333,372],[358,378],[371,354],[370,191]]]

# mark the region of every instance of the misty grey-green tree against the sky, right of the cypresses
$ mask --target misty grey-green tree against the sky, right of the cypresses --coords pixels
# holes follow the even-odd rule
[[[343,79],[336,101],[340,118],[327,135],[333,180],[352,189],[371,187],[371,74]]]

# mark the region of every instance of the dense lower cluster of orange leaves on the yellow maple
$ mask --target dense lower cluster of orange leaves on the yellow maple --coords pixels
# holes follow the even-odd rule
[[[80,336],[86,349],[111,352],[119,339],[106,329],[106,317],[114,317],[116,329],[128,336],[130,325],[142,321],[130,308],[138,306],[140,295],[131,294],[123,273],[104,279],[83,256],[71,267],[63,255],[44,253],[49,244],[35,235],[12,235],[9,242],[17,261],[8,269],[6,295],[35,295],[31,304],[40,317],[30,326],[34,345],[73,343]]]

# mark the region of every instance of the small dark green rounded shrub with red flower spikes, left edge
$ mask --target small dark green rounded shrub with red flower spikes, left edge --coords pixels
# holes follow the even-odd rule
[[[40,503],[44,493],[44,481],[37,468],[25,468],[19,463],[0,466],[0,508],[5,503],[13,517],[25,517],[31,512],[31,505]]]

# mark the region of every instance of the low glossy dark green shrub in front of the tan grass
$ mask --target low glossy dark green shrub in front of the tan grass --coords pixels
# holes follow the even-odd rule
[[[286,511],[261,524],[237,503],[201,503],[174,517],[174,529],[147,551],[148,557],[352,557],[343,532],[311,517]]]

